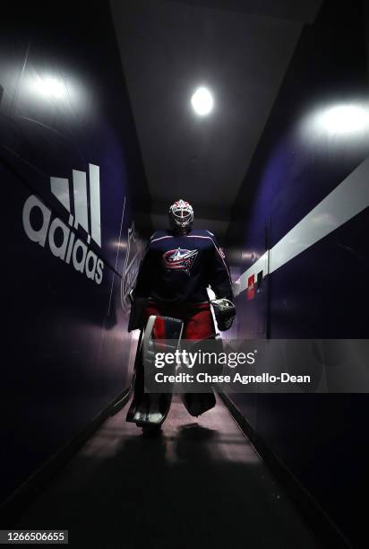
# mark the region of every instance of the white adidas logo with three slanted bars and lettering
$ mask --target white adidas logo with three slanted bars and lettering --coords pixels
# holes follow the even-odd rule
[[[54,256],[73,265],[76,271],[84,273],[100,284],[104,262],[87,245],[92,238],[101,248],[99,166],[89,164],[89,188],[87,174],[84,171],[73,170],[72,200],[69,179],[50,178],[50,186],[53,195],[69,212],[68,224],[58,217],[52,219],[51,210],[38,196],[31,195],[23,206],[24,231],[32,242],[37,242],[43,248],[48,247]],[[87,244],[76,238],[77,235],[73,231],[73,228],[77,229],[79,225],[87,233]]]

